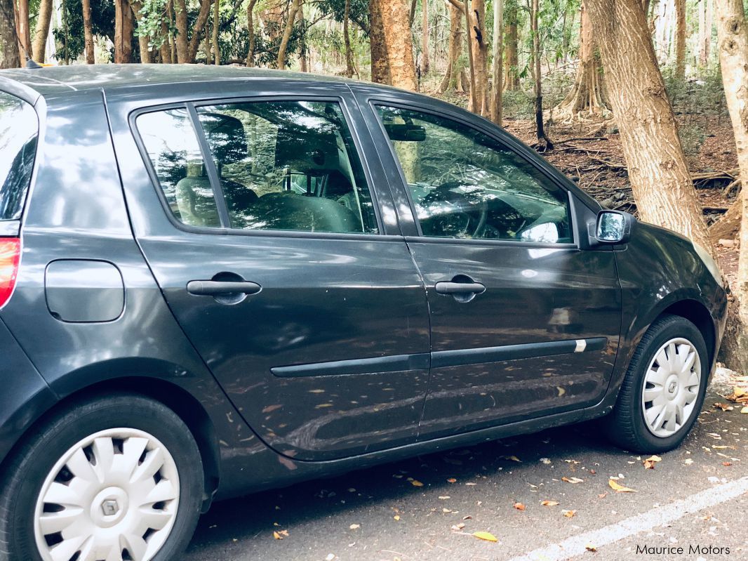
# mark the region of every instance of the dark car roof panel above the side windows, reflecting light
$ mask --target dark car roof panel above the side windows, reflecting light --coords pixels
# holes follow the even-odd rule
[[[0,86],[2,79],[17,82],[42,96],[71,91],[108,91],[132,86],[176,85],[247,79],[354,83],[352,80],[335,76],[239,66],[216,67],[205,64],[74,64],[70,66],[19,68],[0,71]]]

